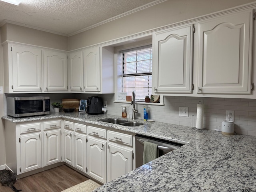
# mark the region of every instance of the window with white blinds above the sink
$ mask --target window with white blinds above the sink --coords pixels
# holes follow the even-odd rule
[[[120,51],[118,56],[118,92],[135,93],[144,101],[152,91],[152,45]]]

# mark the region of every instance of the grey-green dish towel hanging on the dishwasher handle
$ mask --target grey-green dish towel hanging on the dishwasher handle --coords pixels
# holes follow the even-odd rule
[[[157,158],[157,144],[144,141],[143,164]]]

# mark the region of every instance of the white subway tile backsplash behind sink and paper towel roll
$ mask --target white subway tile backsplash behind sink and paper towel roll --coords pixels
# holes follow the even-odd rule
[[[102,95],[108,101],[108,114],[122,115],[121,103],[114,103],[114,94]],[[192,126],[192,115],[195,116],[198,102],[204,104],[204,128],[218,129],[221,122],[226,120],[226,110],[234,110],[234,129],[239,134],[256,136],[256,99],[237,98],[201,98],[165,96],[164,106],[149,105],[149,118],[157,122]],[[188,107],[189,116],[180,117],[179,107]],[[136,104],[139,114],[137,118],[143,119],[143,105]],[[132,107],[130,107],[132,117]]]

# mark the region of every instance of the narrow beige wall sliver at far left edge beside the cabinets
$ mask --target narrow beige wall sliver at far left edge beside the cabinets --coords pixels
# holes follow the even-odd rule
[[[0,42],[1,42],[0,28]],[[0,46],[0,86],[4,86],[2,46]],[[4,94],[0,94],[0,117],[4,116]],[[5,164],[4,122],[0,119],[0,166]]]

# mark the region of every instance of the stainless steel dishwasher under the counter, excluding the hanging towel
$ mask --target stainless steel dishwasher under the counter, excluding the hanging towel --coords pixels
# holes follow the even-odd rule
[[[144,151],[144,141],[152,142],[155,144],[158,144],[158,157],[175,150],[179,147],[181,147],[183,144],[163,140],[163,139],[158,139],[158,138],[153,138],[153,137],[148,137],[144,135],[136,135],[136,168],[142,166],[142,161],[143,161],[143,151]]]

